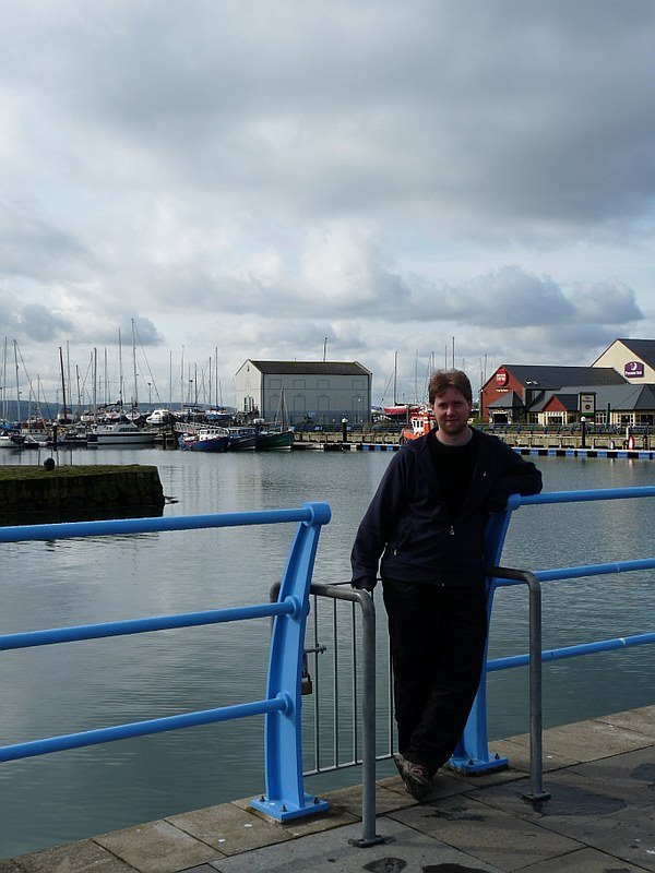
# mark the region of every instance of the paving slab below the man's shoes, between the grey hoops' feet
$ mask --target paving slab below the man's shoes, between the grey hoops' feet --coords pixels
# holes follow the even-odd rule
[[[520,870],[583,848],[567,836],[464,796],[413,806],[390,817],[503,871]]]

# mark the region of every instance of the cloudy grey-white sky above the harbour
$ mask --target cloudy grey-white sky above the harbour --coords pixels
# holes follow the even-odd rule
[[[651,0],[0,0],[5,395],[655,337],[654,46]]]

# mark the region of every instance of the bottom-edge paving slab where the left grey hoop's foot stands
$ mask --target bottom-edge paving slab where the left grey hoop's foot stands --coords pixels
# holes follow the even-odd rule
[[[379,825],[391,840],[380,846],[353,847],[348,840],[358,839],[359,829],[352,825],[214,861],[211,866],[219,873],[502,873],[400,822],[384,817]]]

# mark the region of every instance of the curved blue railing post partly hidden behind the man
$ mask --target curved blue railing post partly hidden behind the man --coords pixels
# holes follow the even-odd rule
[[[485,537],[485,562],[487,566],[496,566],[500,563],[502,547],[504,545],[508,527],[512,512],[516,509],[516,503],[512,495],[508,502],[508,507],[503,512],[495,513],[487,525]],[[517,495],[516,495],[517,497]],[[493,591],[496,586],[493,581],[487,579],[487,624],[491,623],[491,608],[493,606]],[[489,752],[489,741],[487,737],[487,646],[485,646],[485,660],[483,665],[483,678],[471,709],[464,733],[452,757],[446,766],[458,773],[481,774],[490,770],[507,767],[509,760],[492,755]]]

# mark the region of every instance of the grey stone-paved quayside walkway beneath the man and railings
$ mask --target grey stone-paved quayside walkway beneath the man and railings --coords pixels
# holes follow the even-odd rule
[[[0,873],[638,873],[655,871],[655,706],[552,728],[532,804],[528,738],[495,743],[511,769],[444,772],[426,802],[398,777],[377,788],[377,834],[357,848],[361,790],[332,791],[322,816],[283,826],[236,801],[0,861]]]

